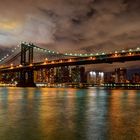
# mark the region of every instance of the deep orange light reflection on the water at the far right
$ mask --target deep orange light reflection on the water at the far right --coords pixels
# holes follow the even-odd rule
[[[140,96],[134,90],[113,90],[108,111],[109,139],[140,138]]]

